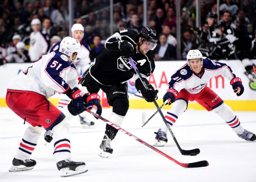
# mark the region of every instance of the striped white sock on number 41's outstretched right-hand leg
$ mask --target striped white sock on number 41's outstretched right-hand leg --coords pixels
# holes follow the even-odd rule
[[[244,133],[244,128],[240,124],[239,119],[228,105],[223,103],[219,107],[213,109],[213,111],[217,113],[222,119],[224,119],[234,132],[240,135]]]

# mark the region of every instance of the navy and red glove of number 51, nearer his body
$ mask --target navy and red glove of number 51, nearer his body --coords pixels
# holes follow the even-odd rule
[[[81,91],[74,87],[70,92],[72,101],[68,104],[68,111],[76,116],[84,111],[84,99],[82,98]]]

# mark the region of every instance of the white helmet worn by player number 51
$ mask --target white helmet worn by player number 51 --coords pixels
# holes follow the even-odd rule
[[[81,44],[78,42],[78,40],[72,38],[72,37],[65,37],[60,42],[60,49],[59,51],[66,54],[70,57],[71,63],[73,63],[76,60],[76,57],[78,56],[80,52]],[[72,59],[73,53],[77,53],[76,57]]]

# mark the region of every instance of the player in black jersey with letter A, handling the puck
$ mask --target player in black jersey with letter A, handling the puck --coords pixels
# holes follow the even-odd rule
[[[133,76],[136,89],[146,101],[153,102],[157,99],[154,87],[147,80],[155,69],[149,50],[153,50],[156,43],[156,31],[149,27],[143,27],[138,34],[131,29],[120,30],[106,40],[107,50],[94,59],[94,64],[82,76],[80,83],[90,93],[98,93],[100,89],[106,93],[108,104],[113,107],[109,120],[118,126],[121,126],[129,108],[127,81]],[[128,57],[132,57],[150,90],[146,91]],[[106,125],[99,156],[108,158],[112,154],[111,141],[117,132],[114,127]]]

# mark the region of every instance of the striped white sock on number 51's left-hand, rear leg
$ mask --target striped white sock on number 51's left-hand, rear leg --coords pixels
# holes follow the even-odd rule
[[[41,130],[44,131],[44,128],[30,126],[26,129],[24,136],[20,142],[19,149],[14,156],[16,159],[24,160],[30,158],[30,155],[35,149],[42,133]]]

